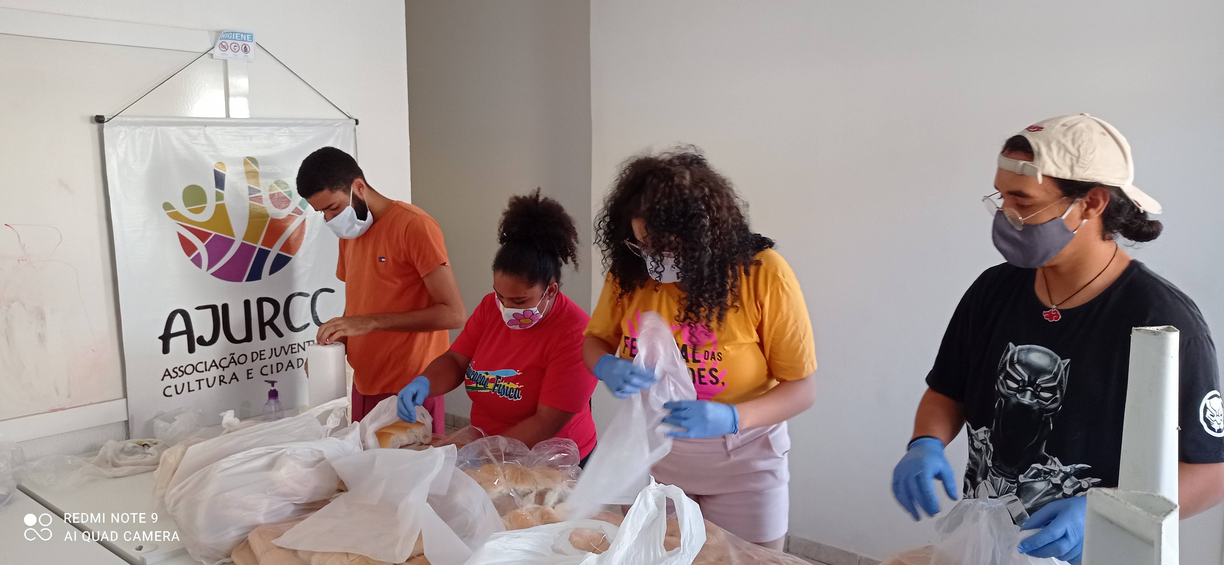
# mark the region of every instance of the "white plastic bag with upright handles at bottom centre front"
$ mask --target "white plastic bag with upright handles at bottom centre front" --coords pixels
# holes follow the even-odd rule
[[[663,548],[667,501],[676,506],[681,545]],[[595,554],[574,548],[570,534],[579,528],[602,532],[612,541]],[[466,565],[689,565],[705,545],[701,509],[679,487],[650,481],[638,493],[621,527],[601,520],[573,520],[493,536]]]

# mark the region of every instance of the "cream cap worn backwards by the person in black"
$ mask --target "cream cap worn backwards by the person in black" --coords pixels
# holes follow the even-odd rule
[[[1033,160],[999,155],[1000,169],[1032,176],[1038,182],[1044,175],[1121,187],[1141,210],[1160,213],[1160,203],[1133,185],[1131,144],[1104,120],[1087,114],[1058,116],[1033,124],[1020,135],[1033,146]]]

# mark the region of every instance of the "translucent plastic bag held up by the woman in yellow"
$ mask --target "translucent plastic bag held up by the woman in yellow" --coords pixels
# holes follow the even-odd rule
[[[633,501],[633,497],[651,482],[650,466],[672,450],[672,439],[667,437],[672,427],[662,423],[668,412],[663,405],[696,399],[671,327],[657,312],[641,314],[638,356],[633,364],[654,367],[659,380],[618,401],[621,406],[607,427],[617,432],[600,438],[569,495],[574,519],[590,516],[605,504]]]

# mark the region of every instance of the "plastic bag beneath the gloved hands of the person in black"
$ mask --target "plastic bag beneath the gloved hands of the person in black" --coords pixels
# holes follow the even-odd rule
[[[967,498],[935,520],[940,542],[894,555],[896,565],[1066,565],[1054,558],[1038,559],[1016,550],[1021,533],[999,499]]]

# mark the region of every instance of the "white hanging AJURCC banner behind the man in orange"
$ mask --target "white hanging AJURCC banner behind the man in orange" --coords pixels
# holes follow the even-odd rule
[[[115,117],[103,127],[133,438],[180,406],[259,416],[275,380],[304,406],[306,346],[344,311],[337,238],[297,194],[351,120]]]

